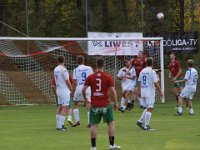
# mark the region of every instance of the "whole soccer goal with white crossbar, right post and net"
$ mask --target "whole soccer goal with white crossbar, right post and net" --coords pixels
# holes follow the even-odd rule
[[[162,38],[18,38],[0,37],[0,104],[54,103],[51,88],[57,57],[66,57],[71,74],[76,57],[84,55],[85,64],[95,69],[96,60],[104,58],[105,71],[115,79],[120,97],[120,81],[116,74],[138,51],[154,58],[154,68],[161,69],[160,84],[164,93]],[[164,97],[157,101],[165,102]]]

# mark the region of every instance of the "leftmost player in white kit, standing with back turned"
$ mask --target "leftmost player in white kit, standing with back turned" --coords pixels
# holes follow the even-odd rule
[[[65,130],[64,122],[68,112],[70,94],[72,85],[69,81],[69,74],[64,67],[65,57],[58,57],[59,65],[54,69],[54,79],[56,82],[56,95],[58,99],[58,107],[56,114],[57,130]]]

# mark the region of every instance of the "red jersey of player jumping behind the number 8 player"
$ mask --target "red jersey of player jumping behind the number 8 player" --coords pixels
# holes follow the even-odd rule
[[[136,75],[137,75],[137,77],[139,77],[142,69],[144,69],[146,67],[146,62],[144,59],[133,59],[132,66],[135,67]]]

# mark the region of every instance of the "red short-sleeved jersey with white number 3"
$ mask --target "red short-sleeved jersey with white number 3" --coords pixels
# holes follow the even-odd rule
[[[106,107],[110,104],[108,89],[114,86],[114,81],[109,74],[97,71],[87,77],[84,85],[91,87],[93,107]]]

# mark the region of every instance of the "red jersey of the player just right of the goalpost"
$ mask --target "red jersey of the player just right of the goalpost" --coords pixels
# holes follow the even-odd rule
[[[178,60],[174,60],[170,62],[169,71],[171,72],[172,77],[175,77],[178,74],[180,68],[181,68],[181,65]],[[179,75],[178,77],[181,77],[181,76],[182,74]]]

